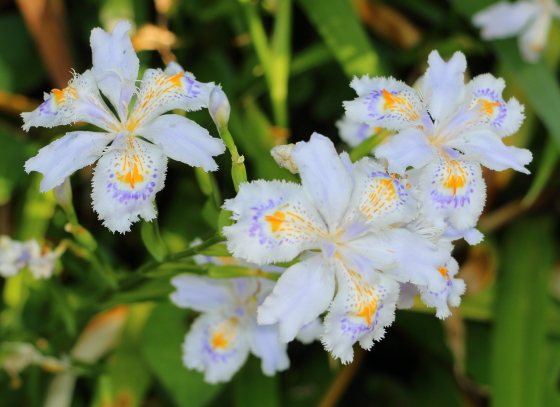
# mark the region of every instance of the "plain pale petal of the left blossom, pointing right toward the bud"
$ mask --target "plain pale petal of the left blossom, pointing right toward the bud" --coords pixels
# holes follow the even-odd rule
[[[138,128],[136,133],[158,145],[169,158],[205,171],[216,171],[218,164],[212,157],[226,150],[221,139],[176,114],[160,116]]]

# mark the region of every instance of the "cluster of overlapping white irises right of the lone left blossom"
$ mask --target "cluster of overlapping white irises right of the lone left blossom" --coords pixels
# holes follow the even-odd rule
[[[352,163],[314,134],[274,152],[301,185],[258,180],[226,201],[234,256],[258,265],[299,259],[258,308],[258,323],[277,324],[281,342],[326,312],[322,342],[347,363],[352,346],[369,349],[415,295],[439,318],[459,305],[465,284],[451,241],[482,239],[474,229],[485,201],[481,164],[528,173],[532,156],[501,140],[524,117],[515,99],[503,100],[502,79],[465,84],[461,53],[445,62],[434,51],[429,65],[418,90],[392,78],[351,84],[359,97],[345,102],[339,127],[352,120],[350,133],[390,131],[375,149],[389,172],[369,157]]]

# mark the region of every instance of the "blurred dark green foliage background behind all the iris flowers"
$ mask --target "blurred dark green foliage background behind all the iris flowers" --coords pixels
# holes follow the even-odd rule
[[[91,67],[89,35],[133,23],[141,71],[176,60],[202,82],[220,83],[230,99],[230,130],[246,157],[249,179],[295,179],[270,148],[316,131],[340,150],[335,122],[353,99],[354,75],[394,76],[412,84],[437,49],[461,51],[469,77],[506,79],[506,96],[525,105],[526,120],[508,141],[531,149],[531,176],[485,171],[483,243],[456,243],[463,304],[441,322],[416,305],[371,351],[352,364],[330,359],[320,343],[290,344],[291,368],[262,375],[253,357],[231,383],[211,386],[181,363],[180,344],[195,317],[171,305],[169,277],[109,290],[92,265],[67,252],[56,276],[0,279],[0,342],[31,342],[44,354],[71,354],[94,315],[124,321],[120,341],[84,363],[73,407],[379,406],[531,407],[560,405],[560,25],[541,62],[524,63],[515,39],[482,42],[469,22],[491,2],[442,0],[0,0],[0,234],[52,246],[69,235],[52,192],[23,163],[71,127],[21,130],[19,113],[43,92],[63,88],[73,68]],[[506,98],[507,99],[507,98]],[[205,111],[189,118],[217,131]],[[89,125],[77,124],[81,129]],[[92,128],[93,129],[93,128]],[[368,151],[368,150],[366,150]],[[228,157],[209,178],[169,162],[157,196],[161,235],[172,252],[217,230],[221,199],[234,196]],[[80,223],[97,239],[115,273],[150,260],[141,224],[113,235],[91,209],[92,168],[72,177]],[[220,196],[205,188],[217,185]],[[107,334],[109,335],[109,334]],[[110,336],[110,335],[109,335]],[[0,406],[44,406],[55,376],[27,368],[21,383],[0,371]],[[63,404],[59,404],[62,406]],[[48,406],[57,407],[57,405]]]

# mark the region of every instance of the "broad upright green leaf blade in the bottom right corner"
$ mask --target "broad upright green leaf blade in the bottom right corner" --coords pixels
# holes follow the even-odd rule
[[[522,220],[505,233],[492,331],[492,406],[541,406],[547,378],[552,220]]]

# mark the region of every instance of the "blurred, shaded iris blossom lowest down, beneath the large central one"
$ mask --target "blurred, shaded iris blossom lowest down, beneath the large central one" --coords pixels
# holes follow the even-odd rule
[[[231,257],[195,256],[199,264],[256,267]],[[277,272],[278,267],[266,270]],[[281,270],[281,269],[280,269]],[[287,345],[278,341],[276,325],[258,325],[257,307],[272,291],[274,282],[264,278],[213,279],[184,274],[171,280],[177,291],[171,300],[179,307],[202,313],[185,337],[183,363],[204,373],[208,383],[229,381],[247,360],[249,352],[261,359],[265,375],[286,370]],[[318,319],[300,330],[297,339],[310,343],[321,333]]]

